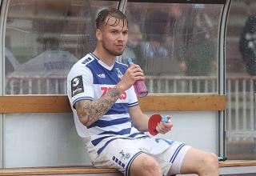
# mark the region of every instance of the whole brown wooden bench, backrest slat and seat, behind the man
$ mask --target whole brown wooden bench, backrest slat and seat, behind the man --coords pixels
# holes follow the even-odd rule
[[[203,111],[226,110],[225,95],[164,95],[147,96],[139,100],[143,111]],[[148,103],[153,102],[153,103]],[[182,103],[177,103],[182,102]],[[64,96],[0,96],[0,113],[65,113],[70,104]],[[256,160],[227,160],[219,162],[220,174],[256,173]],[[58,166],[0,169],[0,176],[6,175],[104,175],[120,176],[114,169],[98,169],[92,166]]]

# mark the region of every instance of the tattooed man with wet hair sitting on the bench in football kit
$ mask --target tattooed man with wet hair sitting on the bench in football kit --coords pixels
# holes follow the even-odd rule
[[[133,176],[218,175],[215,154],[144,133],[149,117],[142,113],[133,86],[145,79],[143,71],[115,60],[126,47],[126,16],[120,10],[102,10],[96,28],[94,52],[81,58],[67,78],[75,126],[93,165]],[[172,126],[159,122],[156,130],[166,134]]]

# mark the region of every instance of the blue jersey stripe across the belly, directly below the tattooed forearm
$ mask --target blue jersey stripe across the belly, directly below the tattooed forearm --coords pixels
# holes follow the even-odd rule
[[[110,121],[106,121],[106,120],[98,120],[96,122],[94,122],[93,124],[91,124],[90,126],[88,126],[87,128],[90,129],[92,127],[106,127],[106,126],[114,126],[114,125],[119,125],[122,123],[126,123],[126,122],[130,122],[130,118],[117,118],[114,120],[110,120]]]

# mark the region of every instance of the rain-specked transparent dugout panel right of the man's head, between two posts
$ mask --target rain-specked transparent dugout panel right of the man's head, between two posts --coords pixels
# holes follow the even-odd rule
[[[216,93],[218,28],[223,5],[127,2],[133,58],[150,94]]]

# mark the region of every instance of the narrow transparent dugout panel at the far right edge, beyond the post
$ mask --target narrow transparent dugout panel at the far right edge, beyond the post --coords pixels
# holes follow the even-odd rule
[[[256,158],[256,2],[233,0],[226,32],[226,154]]]

